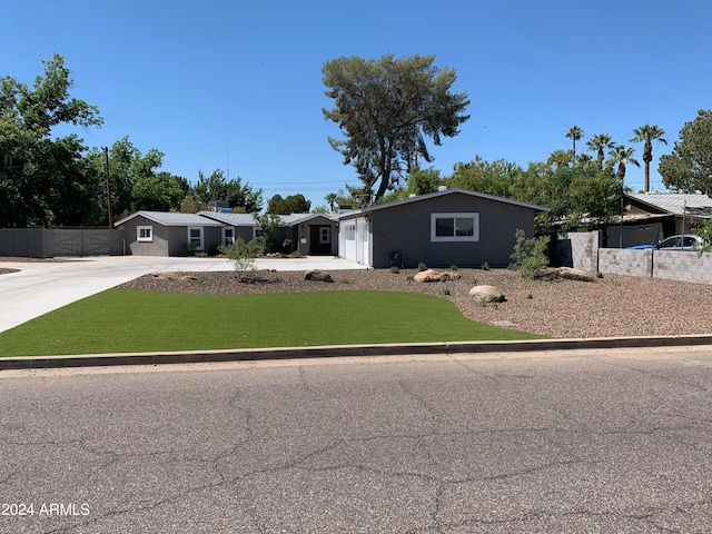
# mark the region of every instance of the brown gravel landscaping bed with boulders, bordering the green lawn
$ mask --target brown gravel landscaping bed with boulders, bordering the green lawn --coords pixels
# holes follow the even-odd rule
[[[333,283],[305,280],[304,271],[259,271],[253,281],[229,271],[172,273],[144,276],[121,287],[206,294],[419,291],[452,300],[473,320],[557,338],[712,334],[712,286],[708,285],[612,275],[592,283],[531,280],[507,269],[456,273],[458,280],[427,284],[414,281],[417,271],[408,269],[398,274],[388,269],[337,270],[330,273]],[[483,306],[468,295],[473,286],[484,284],[497,287],[506,301]],[[413,320],[425,322],[427,317]]]

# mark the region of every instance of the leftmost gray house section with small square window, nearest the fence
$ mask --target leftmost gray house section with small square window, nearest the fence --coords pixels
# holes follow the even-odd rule
[[[137,211],[115,226],[123,227],[126,253],[135,256],[188,256],[222,241],[224,225],[198,214]]]

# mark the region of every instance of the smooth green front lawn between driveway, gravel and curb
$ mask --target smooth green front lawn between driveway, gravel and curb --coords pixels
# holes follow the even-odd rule
[[[449,300],[415,293],[189,295],[115,288],[0,333],[0,355],[541,337],[472,322]]]

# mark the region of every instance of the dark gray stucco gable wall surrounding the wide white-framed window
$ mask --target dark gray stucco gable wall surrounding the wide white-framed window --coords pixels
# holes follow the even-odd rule
[[[479,214],[479,240],[431,241],[434,212]],[[484,263],[505,267],[512,263],[517,228],[527,237],[534,235],[535,215],[531,208],[458,194],[374,210],[369,214],[372,265],[388,267],[387,255],[399,250],[405,267],[416,267],[419,261],[428,267],[478,267]]]

